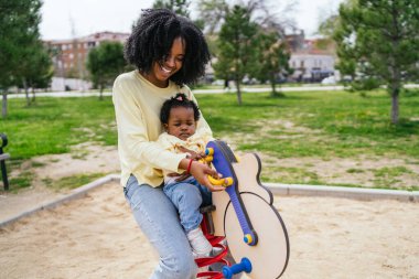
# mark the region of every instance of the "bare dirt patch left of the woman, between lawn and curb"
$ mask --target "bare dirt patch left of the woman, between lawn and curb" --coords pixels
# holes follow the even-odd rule
[[[53,184],[63,178],[90,173],[119,173],[119,158],[116,147],[103,147],[92,142],[72,148],[71,153],[35,157],[13,168],[10,178],[32,173],[31,186],[19,193],[0,192],[0,219],[8,219],[35,206],[64,196],[69,190],[53,190]],[[77,185],[76,185],[77,186]],[[79,185],[82,186],[82,185]],[[10,185],[13,190],[13,185]]]

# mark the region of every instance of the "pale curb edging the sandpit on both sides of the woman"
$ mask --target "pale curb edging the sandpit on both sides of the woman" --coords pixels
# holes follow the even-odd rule
[[[119,174],[108,174],[95,180],[86,185],[73,190],[69,194],[55,201],[42,204],[33,210],[18,214],[14,217],[0,222],[0,228],[7,226],[20,218],[30,216],[39,211],[51,210],[63,203],[85,196],[90,190],[101,186],[108,182],[119,182]],[[281,183],[262,183],[272,194],[279,195],[302,195],[302,196],[330,196],[344,197],[361,201],[372,200],[397,200],[400,202],[419,202],[419,191],[402,190],[377,190],[377,189],[358,189],[342,186],[323,186],[323,185],[300,185],[300,184],[281,184]]]

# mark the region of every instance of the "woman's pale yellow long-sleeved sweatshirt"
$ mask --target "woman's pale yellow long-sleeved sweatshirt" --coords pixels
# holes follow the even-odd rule
[[[122,186],[130,174],[139,184],[159,186],[163,182],[162,172],[181,173],[179,163],[185,153],[164,150],[158,140],[162,133],[160,109],[163,103],[176,93],[183,93],[196,103],[187,86],[180,87],[170,82],[160,88],[147,81],[138,71],[119,75],[114,83],[112,101],[118,127],[118,153],[121,165]],[[212,135],[211,128],[201,116],[196,133]]]

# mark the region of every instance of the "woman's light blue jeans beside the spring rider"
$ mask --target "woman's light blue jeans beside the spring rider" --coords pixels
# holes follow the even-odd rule
[[[190,243],[179,222],[176,208],[162,189],[139,185],[131,175],[123,192],[138,225],[160,256],[150,278],[195,278],[197,266]]]

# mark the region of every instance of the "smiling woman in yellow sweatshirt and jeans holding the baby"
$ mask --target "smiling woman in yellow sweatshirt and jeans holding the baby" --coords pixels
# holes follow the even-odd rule
[[[196,103],[185,85],[196,82],[210,62],[204,35],[190,20],[165,9],[144,10],[125,46],[127,61],[137,69],[114,84],[121,184],[133,216],[160,255],[151,278],[186,279],[196,276],[191,246],[171,201],[162,191],[161,171],[184,170],[211,191],[217,173],[192,163],[185,153],[163,150],[155,140],[162,132],[159,114],[164,100],[183,93]],[[212,135],[203,117],[196,132]],[[191,187],[192,189],[192,187]],[[140,254],[140,253],[139,253]]]

